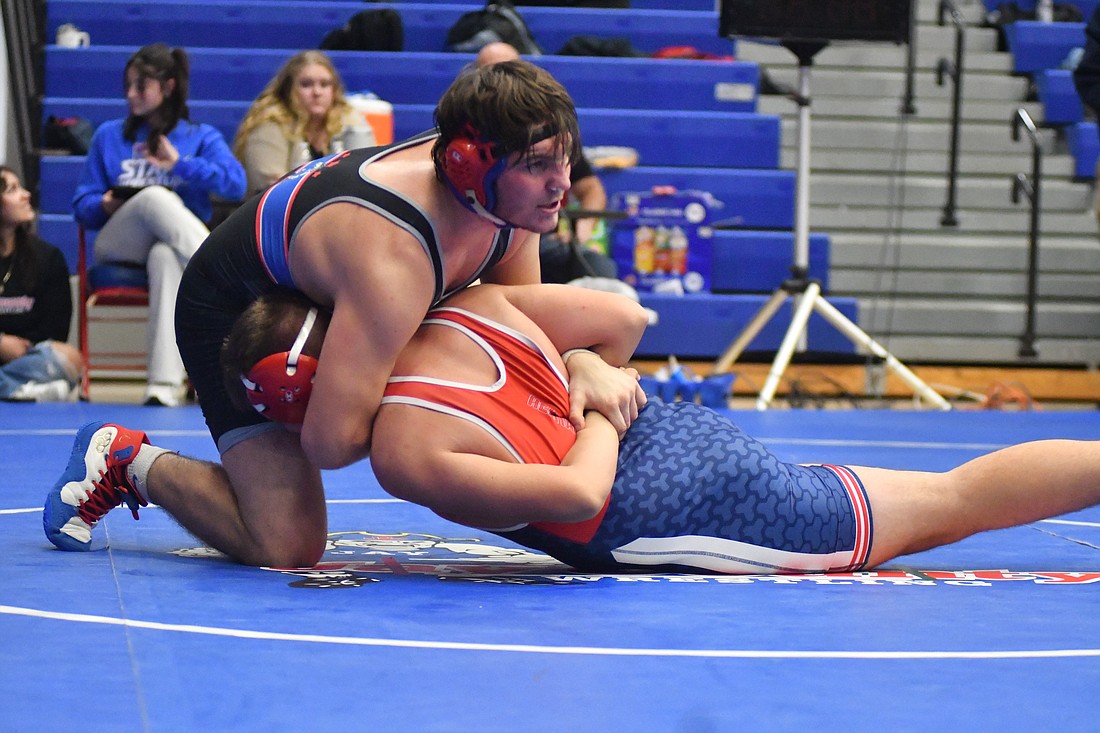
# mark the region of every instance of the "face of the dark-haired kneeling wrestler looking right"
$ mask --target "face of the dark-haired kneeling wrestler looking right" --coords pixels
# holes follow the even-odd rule
[[[496,182],[493,214],[528,231],[546,233],[558,227],[572,168],[561,142],[559,138],[542,140],[508,157]]]

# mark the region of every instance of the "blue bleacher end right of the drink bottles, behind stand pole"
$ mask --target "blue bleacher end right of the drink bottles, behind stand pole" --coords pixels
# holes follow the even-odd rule
[[[828,292],[829,239],[810,234],[810,276]],[[791,276],[794,233],[789,231],[714,232],[711,289],[715,293],[771,293]]]

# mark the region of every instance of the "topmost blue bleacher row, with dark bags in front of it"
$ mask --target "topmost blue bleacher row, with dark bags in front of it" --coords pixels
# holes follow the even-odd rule
[[[372,3],[371,9],[393,8],[405,30],[404,51],[446,51],[447,32],[473,3]],[[348,0],[284,0],[273,7],[265,0],[51,0],[47,37],[62,23],[76,23],[97,44],[127,44],[134,40],[163,41],[177,46],[235,48],[309,48],[324,34],[342,26],[364,10]],[[627,39],[640,52],[664,46],[692,45],[701,51],[733,54],[733,42],[718,36],[714,10],[644,10],[615,12],[595,8],[524,7],[524,20],[547,53],[556,53],[571,37],[594,35]],[[201,19],[201,22],[196,22]]]

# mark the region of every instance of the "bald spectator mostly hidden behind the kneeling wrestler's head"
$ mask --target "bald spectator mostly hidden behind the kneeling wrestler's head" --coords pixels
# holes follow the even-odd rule
[[[519,58],[515,47],[503,42],[486,43],[474,59],[476,66],[488,66]],[[607,190],[584,157],[578,160],[569,176],[570,203],[587,211],[607,208]],[[564,222],[557,232],[543,234],[539,242],[539,260],[543,283],[568,283],[579,277],[617,277],[615,261],[598,250],[586,247],[595,231],[596,217]],[[574,236],[575,244],[574,247]]]

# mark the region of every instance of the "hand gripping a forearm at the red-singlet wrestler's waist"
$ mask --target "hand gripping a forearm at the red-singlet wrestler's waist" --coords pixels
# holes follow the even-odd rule
[[[572,352],[565,366],[569,370],[569,420],[573,427],[584,428],[584,413],[591,409],[606,417],[623,435],[646,404],[638,372],[612,366],[591,351]]]

